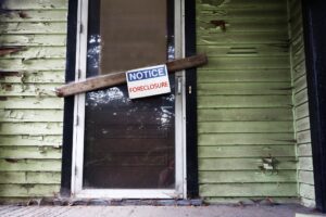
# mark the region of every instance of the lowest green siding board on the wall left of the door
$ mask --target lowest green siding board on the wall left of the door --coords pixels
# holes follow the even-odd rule
[[[1,196],[18,197],[46,197],[55,196],[60,191],[60,184],[0,184]]]

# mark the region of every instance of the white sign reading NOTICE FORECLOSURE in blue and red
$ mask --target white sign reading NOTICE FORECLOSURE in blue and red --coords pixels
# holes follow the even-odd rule
[[[130,99],[171,92],[166,65],[128,71],[126,78]]]

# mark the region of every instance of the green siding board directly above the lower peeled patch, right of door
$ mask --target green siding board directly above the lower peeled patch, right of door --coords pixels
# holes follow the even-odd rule
[[[199,157],[277,157],[296,156],[294,145],[200,146]]]

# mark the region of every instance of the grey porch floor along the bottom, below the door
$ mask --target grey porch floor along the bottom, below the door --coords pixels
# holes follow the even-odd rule
[[[0,206],[0,216],[24,217],[312,217],[326,216],[300,205],[276,206]]]

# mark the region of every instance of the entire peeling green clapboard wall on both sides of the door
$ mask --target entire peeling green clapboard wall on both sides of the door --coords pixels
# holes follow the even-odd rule
[[[52,90],[64,81],[67,0],[1,2],[0,47],[22,50],[0,56],[0,201],[55,196],[63,101]],[[208,202],[300,194],[314,204],[298,5],[197,0],[197,46],[210,61],[198,72],[200,195]]]

